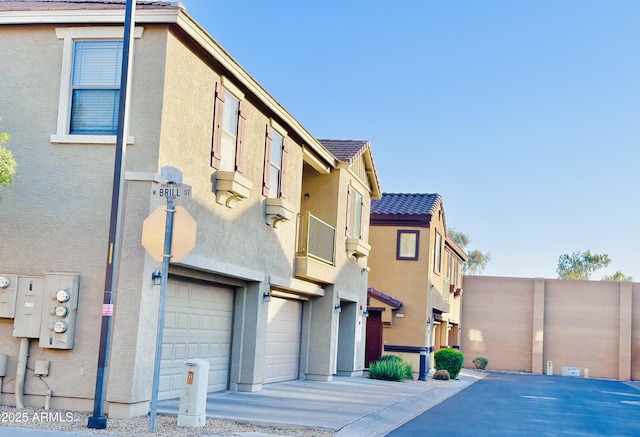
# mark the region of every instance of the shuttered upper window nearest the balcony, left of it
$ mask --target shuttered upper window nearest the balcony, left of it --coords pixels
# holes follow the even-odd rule
[[[273,120],[267,125],[264,152],[262,194],[270,198],[286,198],[287,162],[286,132]]]

